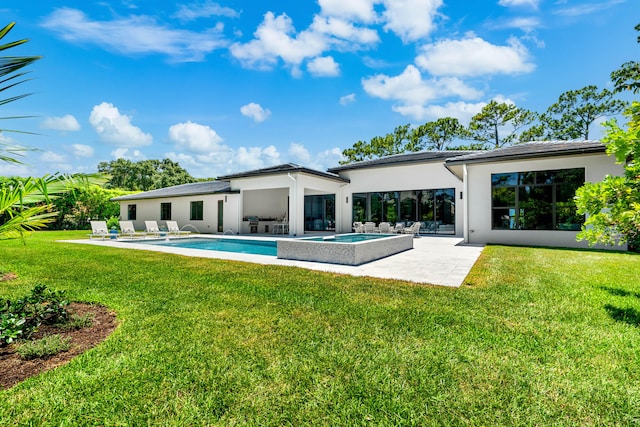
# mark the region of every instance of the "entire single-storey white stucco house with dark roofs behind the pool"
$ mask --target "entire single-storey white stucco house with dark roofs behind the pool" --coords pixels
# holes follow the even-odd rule
[[[490,151],[424,151],[317,171],[296,164],[117,197],[120,217],[176,220],[203,233],[348,233],[354,221],[421,222],[467,243],[587,247],[572,199],[622,175],[598,141],[529,142]]]

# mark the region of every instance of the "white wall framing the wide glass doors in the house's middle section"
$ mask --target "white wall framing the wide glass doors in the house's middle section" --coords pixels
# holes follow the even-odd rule
[[[353,193],[435,190],[441,188],[455,189],[456,236],[462,236],[463,231],[463,203],[460,199],[462,181],[453,175],[443,162],[402,164],[397,166],[378,166],[371,169],[353,169],[340,172],[340,176],[351,180],[351,184],[341,191],[340,200],[336,198],[336,205],[342,206],[339,218],[342,232],[351,231]],[[347,203],[347,196],[349,202]],[[463,197],[466,195],[463,194]]]

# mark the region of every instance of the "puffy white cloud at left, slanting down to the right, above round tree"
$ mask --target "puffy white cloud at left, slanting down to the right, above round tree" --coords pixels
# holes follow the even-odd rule
[[[103,102],[93,107],[89,123],[100,139],[117,147],[142,147],[151,145],[153,138],[131,124],[131,117],[120,114],[113,104]]]

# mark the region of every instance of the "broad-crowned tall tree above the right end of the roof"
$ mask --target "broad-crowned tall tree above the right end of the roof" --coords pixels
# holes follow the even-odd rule
[[[610,90],[598,92],[593,85],[563,93],[540,118],[546,138],[589,139],[593,122],[624,110],[626,104],[613,97]]]

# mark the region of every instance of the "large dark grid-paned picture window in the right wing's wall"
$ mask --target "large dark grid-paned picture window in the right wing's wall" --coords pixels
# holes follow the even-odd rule
[[[584,176],[584,168],[492,174],[492,229],[580,230],[573,197]]]

